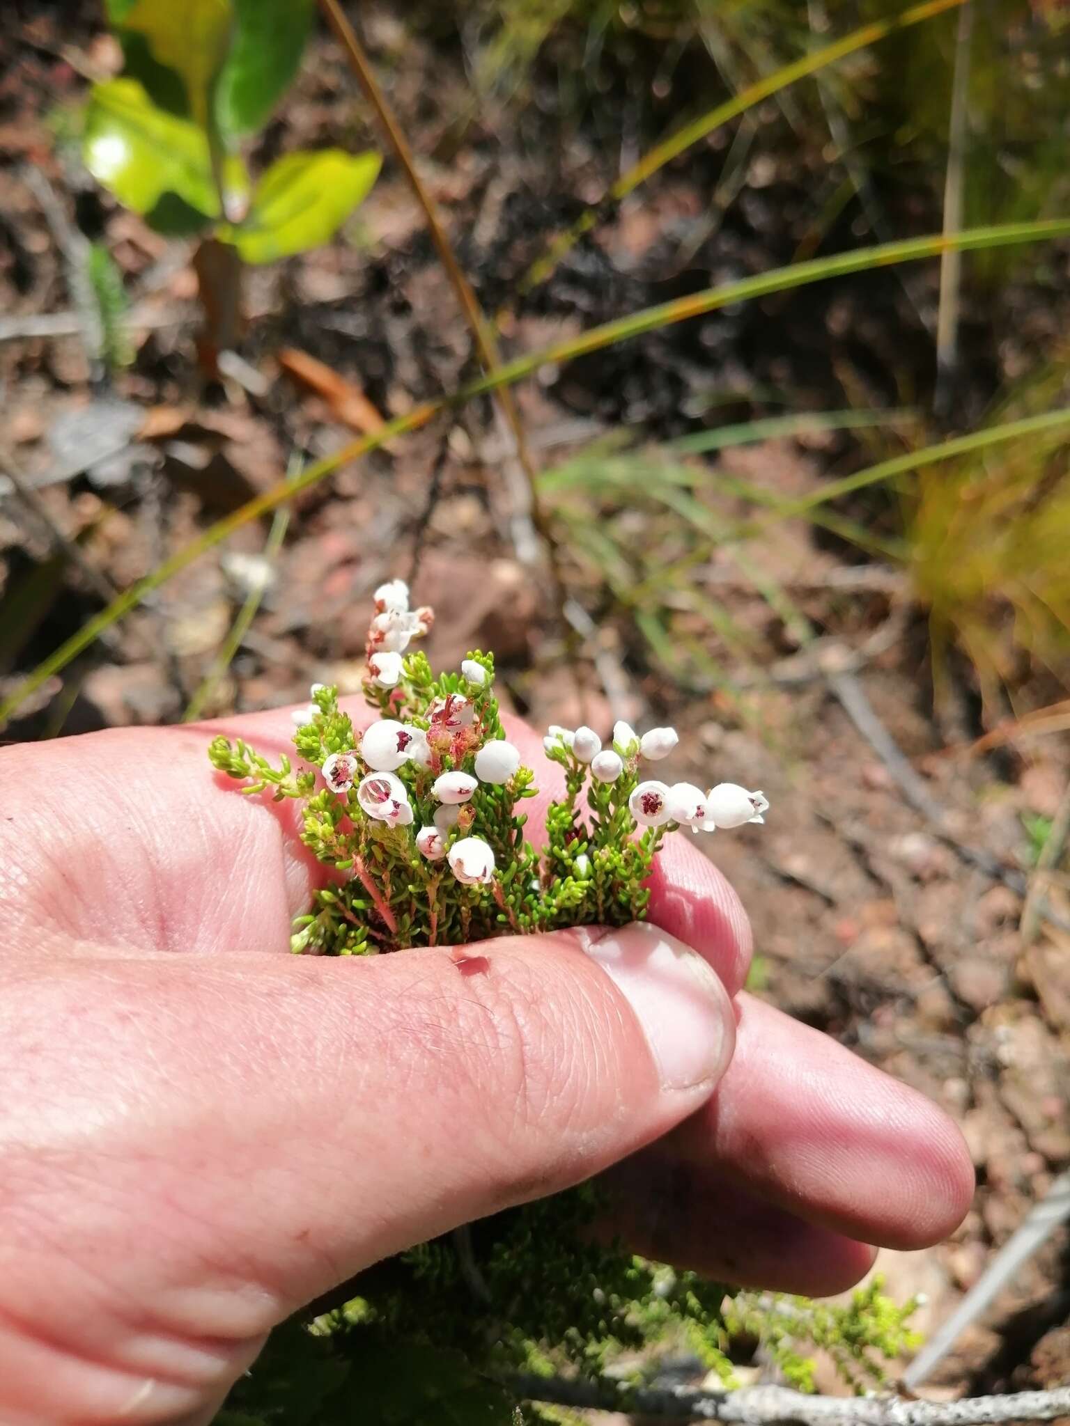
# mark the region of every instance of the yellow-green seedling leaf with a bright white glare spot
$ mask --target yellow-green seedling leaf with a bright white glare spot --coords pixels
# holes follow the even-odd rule
[[[207,134],[188,118],[157,108],[137,80],[93,86],[83,157],[98,183],[150,222],[168,200],[191,212],[190,227],[197,225],[194,220],[205,227],[220,215]],[[240,160],[227,161],[225,183],[235,194],[248,190]]]

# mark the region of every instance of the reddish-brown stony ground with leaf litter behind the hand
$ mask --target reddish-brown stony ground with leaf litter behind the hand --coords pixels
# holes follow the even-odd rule
[[[81,73],[114,63],[91,16],[90,6],[33,6],[17,63],[0,77],[0,690],[101,607],[100,589],[54,556],[47,528],[4,492],[4,475],[14,469],[39,486],[50,522],[77,542],[101,588],[124,588],[268,489],[294,452],[314,459],[351,439],[365,418],[355,426],[344,418],[347,396],[398,415],[475,369],[421,211],[388,164],[348,241],[253,274],[243,345],[251,389],[198,381],[188,252],[101,197],[53,138],[50,116],[77,98]],[[365,31],[459,260],[494,311],[545,237],[599,195],[599,145],[615,133],[619,147],[626,104],[618,113],[606,98],[603,133],[569,127],[552,93],[518,120],[504,103],[474,107],[458,50],[409,36],[382,9]],[[770,131],[780,133],[778,120],[759,111]],[[342,58],[320,37],[261,157],[284,144],[377,141]],[[709,193],[723,157],[700,147],[576,248],[509,321],[508,349],[789,261],[823,160],[780,137],[772,155],[749,163],[729,218],[713,221]],[[64,224],[107,242],[131,294],[134,361],[106,384],[93,381],[77,335]],[[892,274],[870,274],[544,369],[518,392],[535,459],[556,465],[621,426],[662,441],[745,419],[770,409],[762,401],[772,389],[789,392],[792,409],[840,406],[845,369],[869,399],[896,402],[903,386],[932,376],[914,308],[932,304],[934,281],[913,272],[905,289]],[[967,317],[979,356],[964,378],[966,408],[983,404],[993,368],[1012,359],[1012,305],[1019,342],[1066,325],[1070,279],[1061,308],[1030,304],[1021,284],[1016,292],[1004,308]],[[26,335],[33,318],[56,312],[73,314],[73,334]],[[334,389],[295,381],[285,349],[327,364]],[[827,434],[762,442],[728,452],[720,469],[806,493],[863,463],[859,451]],[[760,836],[706,843],[755,924],[753,988],[916,1085],[967,1137],[979,1189],[966,1222],[930,1252],[882,1255],[895,1295],[927,1295],[917,1325],[932,1330],[1070,1165],[1070,934],[1043,921],[1030,944],[1020,935],[1030,874],[1023,819],[1056,813],[1066,746],[1016,737],[977,752],[977,699],[962,670],[952,710],[937,719],[924,616],[907,578],[860,563],[803,519],[780,522],[750,558],[789,592],[815,642],[793,636],[722,552],[696,565],[696,582],[762,650],[745,667],[713,647],[719,687],[671,676],[619,590],[558,526],[571,593],[596,625],[582,653],[581,707],[546,578],[518,550],[508,465],[492,408],[475,405],[448,429],[431,426],[344,468],[295,502],[277,559],[265,565],[267,523],[247,526],[124,620],[111,645],[46,684],[4,736],[181,717],[261,575],[261,610],[208,712],[302,700],[312,679],[357,690],[368,590],[414,560],[415,593],[438,613],[432,663],[472,646],[495,650],[499,686],[536,724],[602,726],[619,714],[675,723],[678,776],[745,773],[772,803]],[[606,513],[598,501],[585,509],[592,522]],[[733,513],[730,502],[718,509]],[[633,538],[643,539],[642,528]],[[671,627],[686,635],[686,613]],[[1051,700],[1041,676],[1019,689],[1019,709]],[[1066,878],[1047,896],[1070,925]],[[1063,1380],[1066,1268],[1067,1239],[1057,1235],[933,1385],[976,1393]]]

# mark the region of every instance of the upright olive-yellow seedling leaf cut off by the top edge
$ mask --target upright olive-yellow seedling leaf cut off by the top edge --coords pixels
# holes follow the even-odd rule
[[[144,36],[150,56],[185,86],[191,117],[207,125],[211,90],[230,47],[231,0],[136,0],[123,29]]]

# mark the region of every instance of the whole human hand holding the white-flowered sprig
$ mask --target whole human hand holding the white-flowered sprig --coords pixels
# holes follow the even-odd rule
[[[238,796],[205,744],[0,754],[4,1426],[201,1426],[302,1303],[609,1165],[638,1251],[729,1282],[835,1292],[865,1243],[957,1224],[956,1128],[740,994],[746,918],[683,837],[652,924],[601,941],[481,943],[481,974],[291,957],[322,868],[292,804]]]

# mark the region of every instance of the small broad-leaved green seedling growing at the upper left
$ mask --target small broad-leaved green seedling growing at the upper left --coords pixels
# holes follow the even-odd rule
[[[288,154],[251,191],[238,153],[297,73],[312,13],[312,0],[108,0],[126,70],[93,86],[90,173],[157,231],[211,232],[248,262],[328,241],[371,190],[377,154]]]

